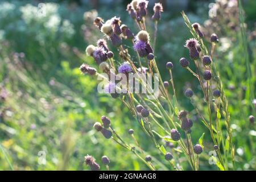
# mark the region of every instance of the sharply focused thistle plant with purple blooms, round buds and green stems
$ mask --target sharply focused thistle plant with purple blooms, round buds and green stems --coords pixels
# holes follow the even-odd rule
[[[234,168],[234,144],[232,142],[232,129],[230,127],[230,114],[228,110],[228,101],[222,86],[220,73],[215,65],[216,58],[213,56],[214,48],[217,46],[218,36],[212,34],[206,38],[201,30],[199,23],[191,23],[185,15],[184,22],[191,32],[191,38],[185,42],[185,48],[189,51],[189,57],[181,57],[179,61],[166,61],[166,69],[170,73],[170,80],[163,81],[158,69],[158,52],[155,52],[156,37],[158,33],[158,23],[163,13],[161,3],[154,6],[154,15],[148,15],[148,1],[133,0],[127,5],[127,12],[131,19],[137,25],[137,32],[131,32],[131,28],[122,24],[122,20],[117,16],[103,22],[102,18],[97,17],[94,21],[96,29],[104,35],[104,39],[99,39],[97,46],[90,45],[86,48],[86,54],[93,57],[100,71],[82,64],[80,70],[90,76],[98,76],[105,81],[105,93],[110,94],[113,99],[118,99],[125,105],[134,120],[141,126],[141,130],[147,136],[147,140],[152,142],[156,150],[159,151],[163,161],[155,160],[149,151],[145,151],[138,142],[137,132],[133,129],[127,129],[131,140],[125,140],[122,134],[114,129],[114,121],[110,122],[108,116],[102,116],[101,122],[94,124],[94,129],[102,133],[106,139],[112,139],[126,150],[133,152],[148,168],[156,170],[159,163],[170,164],[172,170],[183,170],[184,160],[192,170],[200,169],[200,156],[204,154],[204,135],[209,134],[212,139],[212,150],[216,151],[214,161],[220,170]],[[151,18],[149,18],[149,17]],[[154,35],[147,32],[147,23],[154,21]],[[126,41],[124,41],[127,39]],[[205,41],[210,40],[211,47],[208,48]],[[133,46],[126,46],[125,42],[130,42]],[[152,45],[152,46],[151,46]],[[180,45],[183,47],[183,45]],[[112,49],[113,48],[113,49]],[[208,52],[208,49],[211,52]],[[113,52],[118,52],[113,55]],[[137,56],[131,56],[137,55]],[[179,67],[179,64],[180,67]],[[193,71],[191,66],[196,69]],[[179,102],[175,89],[175,81],[172,76],[172,69],[187,69],[191,72],[201,88],[201,95],[195,96],[191,88],[185,90],[184,94],[191,104],[199,118],[195,119],[191,111],[184,110],[184,106]],[[119,78],[122,73],[124,77]],[[139,74],[141,73],[141,74]],[[142,74],[144,73],[144,74]],[[159,82],[159,95],[152,92],[153,86],[148,85],[146,77],[156,74],[158,77],[154,82]],[[144,86],[146,93],[134,92],[129,82],[123,82],[127,78],[133,77]],[[118,78],[112,80],[111,78]],[[215,87],[214,87],[215,85]],[[125,92],[120,92],[120,90]],[[150,96],[150,98],[148,97]],[[194,97],[200,97],[203,104],[199,107],[194,101]],[[202,109],[203,108],[203,109]],[[225,130],[220,122],[220,118],[225,119]],[[201,129],[205,130],[199,139],[193,138],[193,126],[195,120],[199,123]],[[250,117],[250,121],[254,120]],[[133,122],[133,121],[131,121]],[[161,144],[161,140],[171,142],[175,146],[174,151],[168,152],[166,147]],[[198,140],[197,143],[193,141]],[[135,144],[131,143],[133,141]],[[213,147],[214,146],[214,147]],[[88,159],[87,159],[88,158]],[[181,160],[181,158],[183,158]],[[108,158],[102,157],[102,162],[107,165]],[[86,156],[86,164],[92,168],[94,160],[89,161]],[[230,162],[233,165],[230,167]],[[96,164],[94,166],[97,166]],[[108,168],[108,167],[107,167]]]

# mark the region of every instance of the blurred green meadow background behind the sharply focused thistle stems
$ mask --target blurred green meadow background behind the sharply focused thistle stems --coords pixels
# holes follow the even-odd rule
[[[42,2],[46,5],[43,17],[38,15],[38,5]],[[151,15],[154,2],[150,1],[148,7]],[[255,170],[255,124],[251,125],[247,119],[255,115],[255,110],[248,89],[245,52],[236,16],[238,9],[226,10],[237,1],[222,1],[226,6],[223,5],[220,8],[223,11],[213,19],[209,19],[208,11],[209,3],[215,1],[162,2],[164,13],[159,22],[155,52],[163,79],[169,79],[165,65],[171,60],[175,65],[173,74],[179,101],[196,118],[183,91],[189,86],[200,96],[200,89],[197,81],[178,64],[180,57],[188,57],[183,45],[191,37],[180,14],[184,10],[192,23],[200,23],[205,32],[216,32],[220,38],[217,64],[229,100],[236,169]],[[121,0],[0,2],[1,170],[88,170],[84,164],[86,154],[93,155],[99,164],[102,155],[109,156],[111,170],[148,169],[131,152],[93,130],[94,122],[99,121],[101,115],[107,115],[114,129],[131,143],[127,130],[133,128],[145,151],[162,160],[154,145],[144,140],[144,133],[126,107],[106,94],[98,94],[96,78],[83,76],[79,71],[84,62],[95,65],[84,50],[103,37],[93,26],[96,16],[105,20],[120,16],[122,23],[133,32],[138,31],[125,11],[127,3],[129,1]],[[256,1],[243,1],[243,6],[255,86]],[[147,25],[152,35],[154,24],[149,18]],[[194,127],[196,142],[205,129],[200,122],[195,122]],[[210,140],[208,135],[205,138]],[[208,164],[210,145],[205,144],[203,170],[217,169]],[[40,164],[40,151],[46,152],[45,165]],[[102,169],[105,169],[103,165]]]

